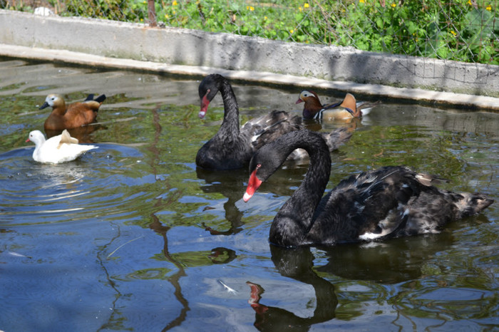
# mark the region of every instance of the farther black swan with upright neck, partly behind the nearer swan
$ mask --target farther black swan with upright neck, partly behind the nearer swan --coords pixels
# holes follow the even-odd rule
[[[249,120],[239,127],[239,107],[227,79],[219,74],[206,76],[199,86],[201,100],[200,118],[204,118],[210,101],[220,90],[224,101],[224,120],[218,132],[203,145],[196,155],[196,165],[208,170],[231,170],[249,162],[260,147],[279,138],[284,133],[303,129],[302,118],[290,115],[283,110],[274,110],[262,117]],[[329,150],[336,150],[351,137],[346,128],[331,133],[321,133]],[[289,159],[299,159],[307,155],[294,152]]]

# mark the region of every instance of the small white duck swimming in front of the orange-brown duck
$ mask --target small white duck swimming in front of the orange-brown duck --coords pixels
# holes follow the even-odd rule
[[[35,150],[33,159],[37,162],[69,162],[75,160],[83,152],[96,149],[95,145],[78,145],[78,140],[69,135],[68,130],[63,130],[61,135],[45,140],[45,136],[40,130],[33,130],[29,133],[26,142],[34,142]]]

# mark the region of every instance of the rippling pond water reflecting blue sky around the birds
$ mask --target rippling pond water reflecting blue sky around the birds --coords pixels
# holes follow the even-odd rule
[[[223,114],[218,95],[197,118],[199,79],[0,58],[0,330],[498,328],[499,114],[384,100],[332,154],[329,189],[403,164],[490,194],[482,214],[431,236],[279,249],[269,227],[307,162],[287,164],[248,203],[246,169],[198,170]],[[233,86],[242,121],[302,107],[300,88]],[[73,133],[97,150],[41,165],[25,140],[43,130],[38,107],[53,92],[108,99],[99,125]]]

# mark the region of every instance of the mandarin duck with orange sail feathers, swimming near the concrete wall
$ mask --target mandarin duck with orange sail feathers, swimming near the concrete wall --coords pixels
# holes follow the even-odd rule
[[[375,105],[381,103],[379,100],[374,103],[357,102],[354,95],[346,93],[345,98],[340,102],[322,105],[319,95],[310,90],[303,90],[299,94],[296,103],[302,102],[304,102],[303,118],[324,119],[326,121],[346,121],[352,118],[362,118],[362,115],[369,114]]]

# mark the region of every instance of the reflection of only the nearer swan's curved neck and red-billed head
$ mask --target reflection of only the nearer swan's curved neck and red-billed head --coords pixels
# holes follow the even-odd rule
[[[317,304],[312,317],[299,317],[291,311],[260,304],[264,289],[248,281],[251,289],[248,303],[255,313],[254,327],[259,331],[309,331],[312,325],[333,319],[338,305],[334,286],[317,276],[312,269],[314,256],[310,249],[282,249],[271,244],[270,251],[272,261],[282,276],[314,287]]]

